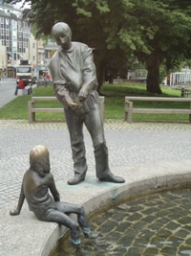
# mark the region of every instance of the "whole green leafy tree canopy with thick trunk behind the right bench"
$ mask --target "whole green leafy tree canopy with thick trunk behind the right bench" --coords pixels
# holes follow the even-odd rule
[[[5,0],[18,3],[21,0]],[[159,66],[171,70],[191,56],[189,0],[25,0],[24,16],[37,36],[50,35],[53,24],[67,22],[74,40],[95,48],[99,86],[114,60],[134,55],[148,70],[147,91],[161,93]]]

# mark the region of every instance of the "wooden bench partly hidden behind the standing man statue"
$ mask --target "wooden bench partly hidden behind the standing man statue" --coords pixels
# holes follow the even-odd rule
[[[104,122],[104,96],[99,96],[100,100],[100,115],[101,119]],[[29,123],[35,122],[35,113],[36,112],[63,112],[63,107],[35,107],[35,101],[57,101],[56,97],[32,97],[32,101],[28,102],[28,120]]]

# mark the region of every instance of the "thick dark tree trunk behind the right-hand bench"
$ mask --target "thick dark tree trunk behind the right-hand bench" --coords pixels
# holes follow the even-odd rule
[[[161,94],[159,87],[159,54],[151,54],[147,59],[147,91]]]

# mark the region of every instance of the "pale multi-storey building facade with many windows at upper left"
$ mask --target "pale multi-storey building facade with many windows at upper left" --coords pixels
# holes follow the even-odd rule
[[[22,11],[0,0],[0,70],[8,78],[15,78],[15,68],[20,59],[32,63],[34,73],[37,69],[37,41],[32,35],[27,20],[22,19]]]

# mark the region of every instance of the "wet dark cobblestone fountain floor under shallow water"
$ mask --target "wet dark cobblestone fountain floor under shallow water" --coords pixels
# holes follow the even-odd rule
[[[191,189],[129,200],[90,219],[95,239],[63,238],[51,256],[191,255]]]

